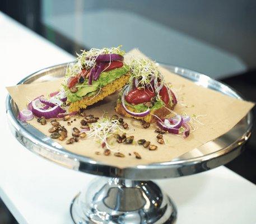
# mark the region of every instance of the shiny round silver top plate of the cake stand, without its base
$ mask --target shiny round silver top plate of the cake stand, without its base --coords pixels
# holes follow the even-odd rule
[[[45,82],[63,77],[66,66],[67,64],[62,64],[43,69],[24,78],[20,83]],[[197,85],[212,88],[226,95],[241,99],[240,95],[230,87],[212,80],[203,74],[179,67],[164,67],[171,72],[192,80]],[[175,158],[175,160],[120,169],[94,161],[85,156],[77,155],[76,153],[71,153],[31,125],[19,122],[17,120],[18,109],[10,96],[7,97],[6,107],[13,134],[30,151],[70,169],[95,175],[133,180],[173,178],[196,174],[226,164],[240,155],[242,151],[241,146],[249,138],[252,129],[252,114],[249,113],[223,136],[195,148],[179,158]]]

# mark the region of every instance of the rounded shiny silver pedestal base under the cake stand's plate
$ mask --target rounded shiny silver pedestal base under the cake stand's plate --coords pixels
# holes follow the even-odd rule
[[[76,224],[174,223],[176,208],[152,181],[98,178],[71,204]]]

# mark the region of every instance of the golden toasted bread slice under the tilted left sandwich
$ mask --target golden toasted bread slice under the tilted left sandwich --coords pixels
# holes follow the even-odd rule
[[[71,102],[68,109],[69,112],[78,111],[82,108],[85,109],[87,106],[95,104],[97,101],[103,100],[106,96],[113,94],[115,91],[124,87],[124,85],[129,81],[129,78],[129,73],[124,74],[117,80],[114,80],[113,82],[101,88],[100,92],[96,96],[83,97],[82,100]]]

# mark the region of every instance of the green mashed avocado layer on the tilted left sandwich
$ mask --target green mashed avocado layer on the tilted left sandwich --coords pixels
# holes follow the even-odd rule
[[[127,71],[128,68],[123,66],[122,68],[115,68],[107,72],[102,72],[100,73],[100,77],[97,81],[92,81],[92,85],[88,85],[88,79],[86,79],[83,83],[77,83],[76,87],[78,90],[75,93],[70,92],[70,90],[65,87],[67,99],[69,102],[76,102],[81,100],[83,96],[94,96],[101,87],[104,87],[114,80],[117,80],[123,76],[123,74],[127,73]]]

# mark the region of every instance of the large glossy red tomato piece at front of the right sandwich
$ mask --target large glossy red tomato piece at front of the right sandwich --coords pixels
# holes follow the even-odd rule
[[[138,88],[134,88],[134,90],[130,91],[128,95],[125,96],[125,100],[129,104],[142,104],[143,102],[150,102],[151,98],[155,96],[155,92],[152,92],[148,89],[139,90]]]

